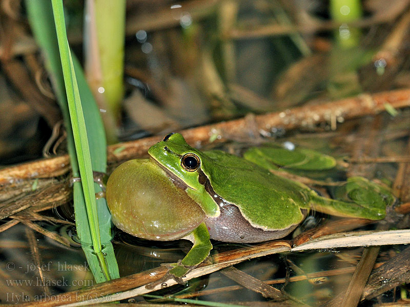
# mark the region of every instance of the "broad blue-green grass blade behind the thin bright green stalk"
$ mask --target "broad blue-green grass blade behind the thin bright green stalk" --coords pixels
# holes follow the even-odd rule
[[[74,137],[71,131],[71,122],[68,111],[67,97],[65,93],[65,82],[63,78],[63,71],[61,69],[60,54],[57,45],[56,28],[54,26],[54,18],[51,7],[51,2],[49,0],[36,0],[26,1],[27,13],[29,21],[32,27],[33,34],[36,38],[37,43],[43,50],[46,59],[46,68],[50,74],[50,78],[57,95],[58,101],[60,103],[61,111],[65,119],[65,125],[67,130],[68,148],[71,159],[71,167],[73,170],[73,176],[79,176],[79,170],[77,165],[77,158],[75,155],[74,148]],[[62,12],[62,7],[61,7]],[[64,19],[63,19],[64,24]],[[65,35],[65,30],[64,30]],[[66,51],[68,49],[68,44],[66,41]],[[69,59],[69,58],[68,58]],[[91,156],[92,169],[100,172],[106,171],[107,155],[106,155],[106,139],[103,128],[103,123],[99,115],[99,110],[95,104],[94,97],[92,96],[90,89],[85,81],[83,71],[81,69],[78,60],[73,56],[72,62],[68,60],[70,71],[74,68],[74,75],[76,78],[71,78],[71,84],[78,83],[79,97],[81,99],[81,104],[84,112],[84,118],[86,121],[86,130],[88,133],[88,144],[90,147],[89,156]],[[67,66],[66,66],[67,68]],[[71,77],[73,77],[73,74]],[[72,92],[74,96],[77,96]],[[75,109],[75,112],[77,109]],[[77,131],[77,137],[79,130]],[[92,178],[92,174],[91,174]],[[94,186],[95,190],[99,191],[98,185],[94,184],[91,180],[91,187]],[[88,197],[90,197],[90,191],[88,192]],[[95,202],[95,196],[92,199]],[[91,201],[92,202],[92,201]],[[88,221],[88,212],[86,210],[85,198],[83,194],[83,189],[81,188],[81,183],[74,183],[74,210],[76,216],[76,228],[78,237],[81,240],[81,246],[86,254],[87,260],[89,261],[90,268],[93,272],[94,278],[97,282],[105,281],[107,278],[107,271],[111,278],[119,277],[118,266],[115,260],[113,247],[110,242],[111,240],[111,215],[107,207],[105,199],[99,199],[96,202],[98,218],[96,218],[94,210],[94,221],[91,224]],[[98,228],[95,230],[96,221],[99,224],[99,237],[100,243],[103,245],[102,253],[106,254],[105,259],[102,257],[102,253],[99,253],[99,259],[96,253],[92,249],[93,236],[98,233]],[[91,232],[90,225],[93,225],[93,234]],[[94,241],[95,238],[94,238]],[[101,269],[100,267],[103,267]],[[108,265],[108,268],[107,266]],[[105,271],[106,274],[103,274]]]

